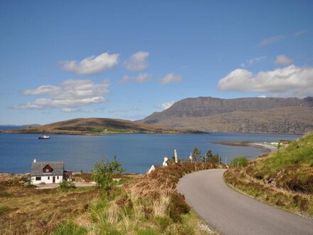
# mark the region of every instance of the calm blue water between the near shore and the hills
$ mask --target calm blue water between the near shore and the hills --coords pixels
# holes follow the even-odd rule
[[[117,155],[127,172],[146,172],[152,164],[161,164],[164,156],[173,155],[176,149],[179,157],[187,158],[193,147],[205,153],[208,148],[230,162],[233,157],[247,156],[250,159],[267,150],[255,147],[233,147],[215,145],[211,141],[277,142],[295,140],[301,135],[245,134],[213,132],[207,135],[50,135],[50,140],[38,140],[36,134],[0,133],[0,172],[30,172],[31,162],[63,161],[65,168],[73,172],[90,172],[95,162],[107,156]]]

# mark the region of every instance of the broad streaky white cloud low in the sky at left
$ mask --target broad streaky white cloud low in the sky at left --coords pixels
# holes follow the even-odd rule
[[[103,95],[109,93],[108,80],[95,83],[92,80],[65,80],[59,85],[42,85],[33,90],[23,90],[23,95],[46,95],[31,103],[14,105],[14,109],[43,109],[64,107],[63,112],[73,112],[80,105],[104,103]]]

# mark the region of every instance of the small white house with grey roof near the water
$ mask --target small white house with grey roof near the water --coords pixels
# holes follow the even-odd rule
[[[65,179],[64,162],[37,162],[31,164],[31,184],[55,184]]]

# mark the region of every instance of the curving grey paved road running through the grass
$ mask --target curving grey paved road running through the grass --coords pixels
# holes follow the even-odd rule
[[[221,234],[313,234],[313,220],[270,207],[230,189],[225,169],[187,174],[178,191]]]

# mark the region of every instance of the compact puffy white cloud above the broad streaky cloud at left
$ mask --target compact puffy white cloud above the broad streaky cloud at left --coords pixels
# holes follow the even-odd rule
[[[119,61],[119,54],[102,53],[99,56],[90,56],[83,61],[63,61],[64,71],[70,71],[78,75],[101,73],[116,66]]]

